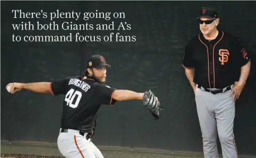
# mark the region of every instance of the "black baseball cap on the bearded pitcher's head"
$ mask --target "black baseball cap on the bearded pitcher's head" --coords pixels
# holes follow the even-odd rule
[[[111,65],[106,63],[105,58],[102,55],[92,55],[91,57],[89,57],[89,59],[87,60],[87,68],[97,68],[100,69],[102,67],[110,67]]]

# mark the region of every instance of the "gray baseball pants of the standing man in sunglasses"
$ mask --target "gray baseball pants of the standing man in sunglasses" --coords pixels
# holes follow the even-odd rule
[[[232,88],[232,86],[231,86]],[[206,158],[217,158],[217,132],[224,158],[237,158],[233,122],[235,102],[229,96],[231,90],[212,94],[196,85],[195,101],[203,138],[203,153]]]

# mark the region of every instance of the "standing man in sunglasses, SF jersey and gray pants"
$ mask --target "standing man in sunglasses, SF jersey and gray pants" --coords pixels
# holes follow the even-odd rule
[[[235,101],[246,84],[251,63],[243,44],[217,29],[219,21],[214,9],[199,11],[201,33],[185,47],[183,67],[195,92],[205,157],[218,157],[218,133],[223,157],[235,158]]]

